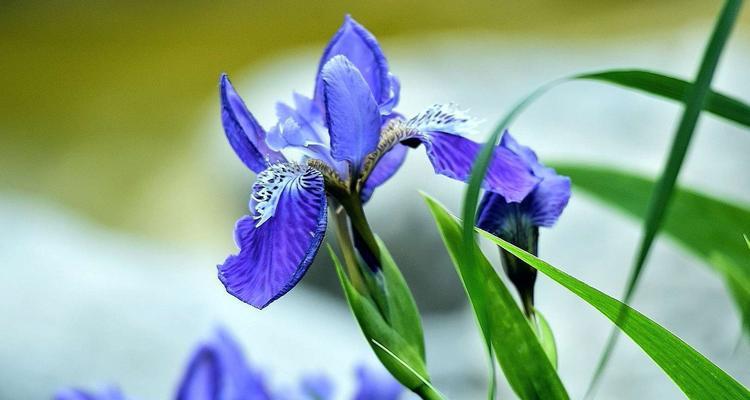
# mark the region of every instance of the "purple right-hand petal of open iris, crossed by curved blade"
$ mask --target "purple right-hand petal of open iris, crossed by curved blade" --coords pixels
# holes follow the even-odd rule
[[[435,172],[467,182],[482,145],[464,137],[443,132],[428,132],[418,137],[425,144]],[[502,195],[507,201],[520,202],[539,183],[526,163],[504,147],[496,147],[482,187]]]

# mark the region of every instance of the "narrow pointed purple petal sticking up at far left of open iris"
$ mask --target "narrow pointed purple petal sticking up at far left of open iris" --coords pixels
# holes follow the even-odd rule
[[[224,133],[240,160],[256,173],[269,163],[284,161],[284,156],[268,147],[266,132],[250,114],[226,74],[221,75],[219,91]]]

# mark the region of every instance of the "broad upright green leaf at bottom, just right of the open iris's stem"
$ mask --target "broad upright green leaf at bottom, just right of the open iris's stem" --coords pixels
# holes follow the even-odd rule
[[[480,328],[491,342],[508,383],[522,399],[568,399],[560,377],[508,288],[476,243],[472,263],[461,245],[461,225],[423,194],[469,297]]]

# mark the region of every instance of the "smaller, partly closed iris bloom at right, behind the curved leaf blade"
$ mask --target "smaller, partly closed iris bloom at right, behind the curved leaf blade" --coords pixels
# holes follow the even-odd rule
[[[546,167],[533,150],[520,145],[508,132],[503,134],[498,147],[521,157],[541,181],[520,202],[510,202],[492,192],[485,193],[479,204],[477,226],[538,255],[539,227],[551,227],[557,222],[570,199],[570,178]],[[521,295],[526,314],[533,314],[536,269],[503,249],[500,255],[506,275]]]

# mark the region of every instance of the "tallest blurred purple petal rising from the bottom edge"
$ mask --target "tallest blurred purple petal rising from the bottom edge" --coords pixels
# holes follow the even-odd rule
[[[180,382],[177,400],[270,400],[263,376],[245,360],[226,332],[196,349]]]

